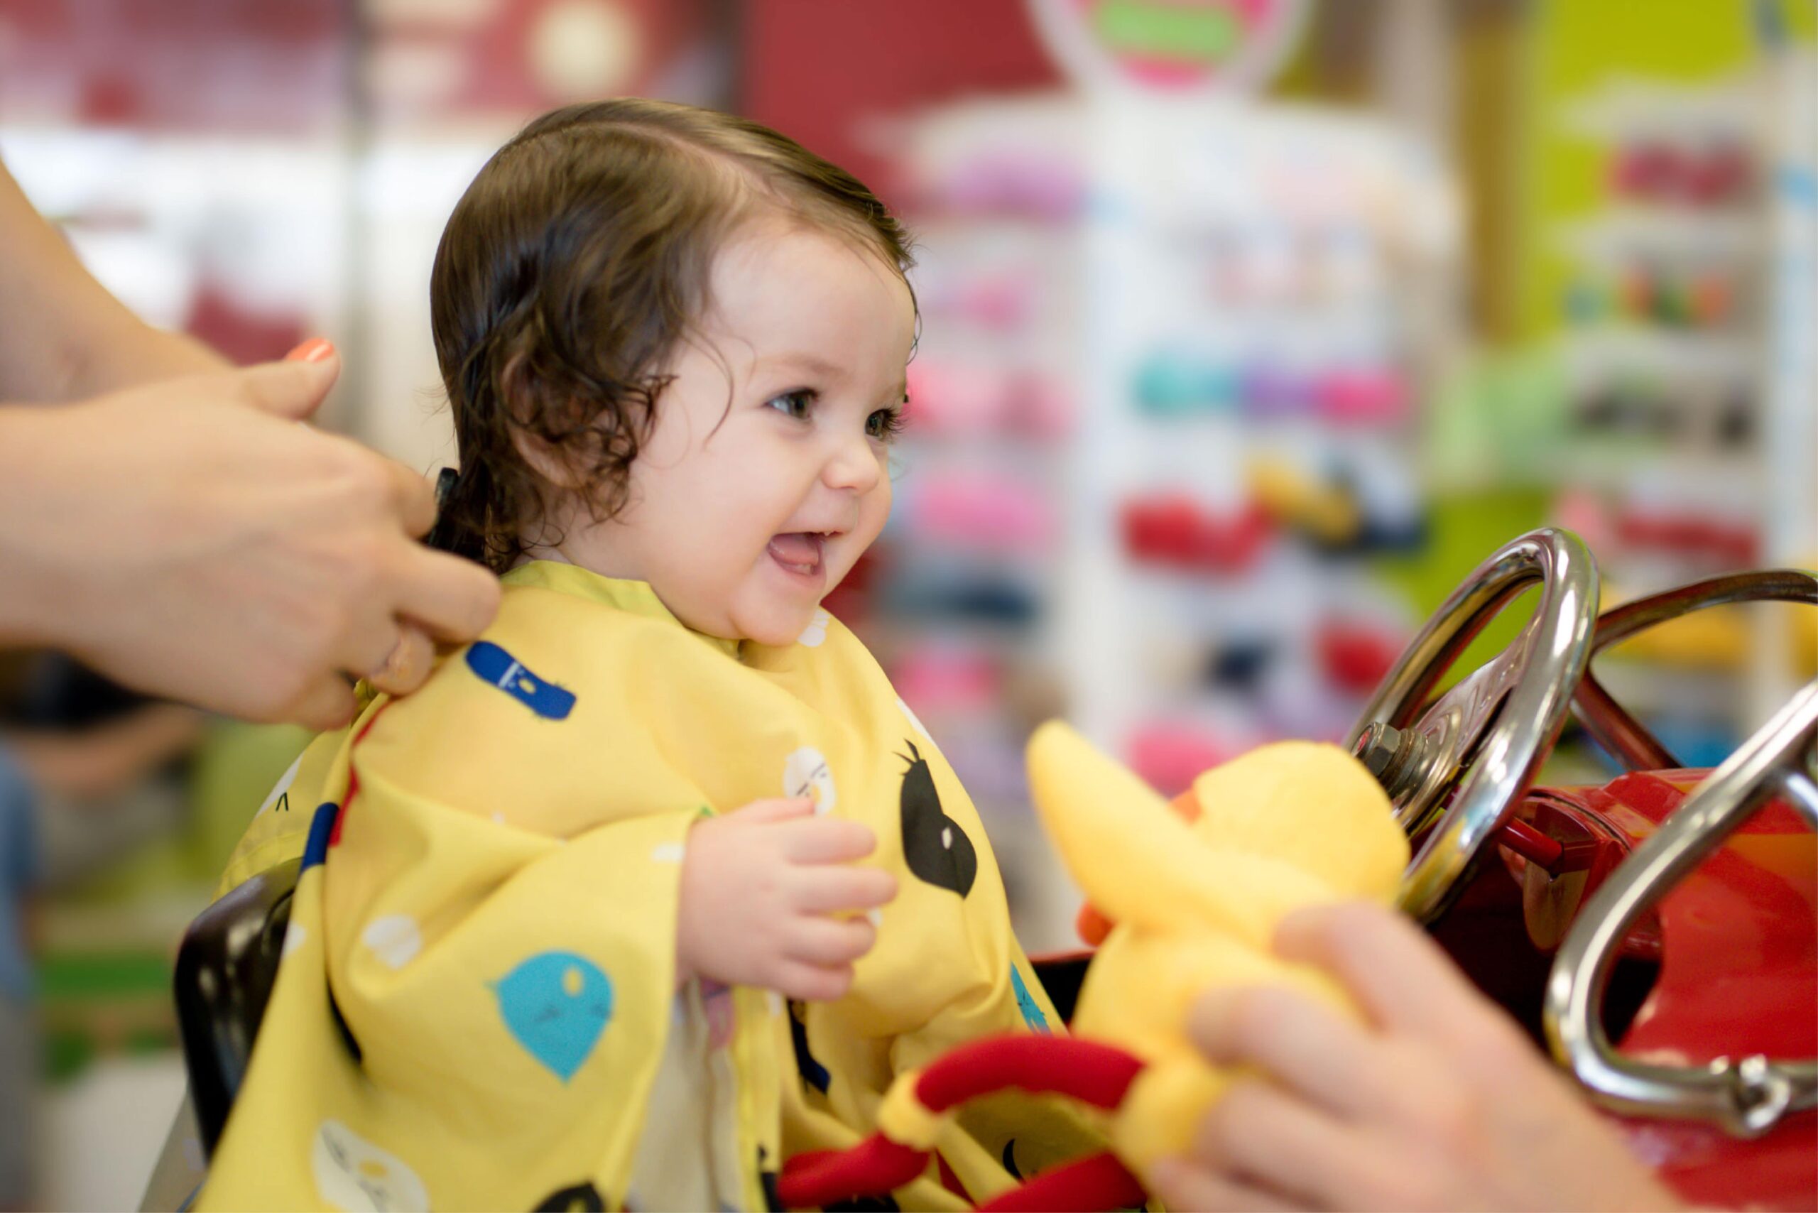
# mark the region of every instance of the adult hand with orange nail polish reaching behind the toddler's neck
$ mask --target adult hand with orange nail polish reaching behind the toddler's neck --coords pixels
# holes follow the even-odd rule
[[[498,582],[415,542],[416,473],[298,426],[340,362],[305,358],[0,409],[0,642],[249,720],[345,724],[349,677],[418,686]]]

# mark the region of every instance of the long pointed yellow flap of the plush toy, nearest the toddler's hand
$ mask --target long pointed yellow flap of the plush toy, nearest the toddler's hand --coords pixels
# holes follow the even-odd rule
[[[1058,720],[1029,738],[1029,791],[1074,880],[1118,924],[1213,926],[1267,947],[1284,913],[1333,897],[1285,864],[1205,846],[1133,771]]]

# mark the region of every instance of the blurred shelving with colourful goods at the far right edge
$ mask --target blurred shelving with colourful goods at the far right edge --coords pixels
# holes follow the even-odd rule
[[[1611,76],[1562,105],[1603,167],[1600,202],[1554,224],[1569,264],[1554,516],[1593,536],[1607,604],[1811,560],[1818,60],[1776,11],[1754,5],[1745,65]],[[1605,678],[1682,758],[1722,758],[1796,686],[1787,629],[1809,622],[1767,611],[1645,633]]]

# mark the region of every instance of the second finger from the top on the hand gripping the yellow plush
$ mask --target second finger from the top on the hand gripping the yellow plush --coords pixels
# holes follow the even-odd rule
[[[1218,1066],[1260,1066],[1314,1104],[1353,1115],[1393,1102],[1382,1040],[1367,1028],[1278,986],[1213,989],[1187,1031]]]

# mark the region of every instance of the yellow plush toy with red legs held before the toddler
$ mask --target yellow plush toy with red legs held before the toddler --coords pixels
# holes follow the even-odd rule
[[[1293,986],[1358,1013],[1327,977],[1271,951],[1294,909],[1394,898],[1407,837],[1356,758],[1313,742],[1264,746],[1205,771],[1169,806],[1049,722],[1029,742],[1029,782],[1067,869],[1116,924],[1087,967],[1073,1037],[980,1040],[902,1075],[873,1138],[789,1160],[787,1206],[887,1191],[898,1173],[925,1166],[962,1102],[1020,1088],[1105,1108],[1113,1155],[1038,1175],[980,1208],[1127,1208],[1142,1198],[1134,1177],[1187,1148],[1229,1080],[1187,1038],[1198,995]]]

